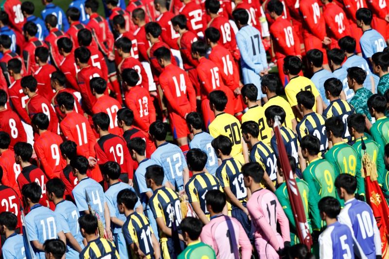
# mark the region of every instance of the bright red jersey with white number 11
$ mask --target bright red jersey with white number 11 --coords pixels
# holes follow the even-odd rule
[[[59,123],[59,128],[66,140],[74,141],[77,144],[77,155],[83,155],[87,158],[89,156],[95,157],[96,137],[87,118],[72,111],[67,113]]]

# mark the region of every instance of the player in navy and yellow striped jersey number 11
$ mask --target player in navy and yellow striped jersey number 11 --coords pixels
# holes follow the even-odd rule
[[[131,254],[146,258],[160,258],[159,243],[147,217],[134,209],[139,202],[135,192],[127,189],[119,191],[116,202],[119,212],[126,218],[123,224],[123,235],[126,244],[131,247]],[[146,237],[143,233],[146,233]]]

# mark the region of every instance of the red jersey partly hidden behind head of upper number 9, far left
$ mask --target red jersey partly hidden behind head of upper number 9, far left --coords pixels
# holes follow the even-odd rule
[[[26,123],[30,124],[30,117],[26,111],[26,103],[28,96],[23,93],[20,85],[21,78],[14,81],[8,88],[9,100],[11,100],[12,107],[18,116]]]

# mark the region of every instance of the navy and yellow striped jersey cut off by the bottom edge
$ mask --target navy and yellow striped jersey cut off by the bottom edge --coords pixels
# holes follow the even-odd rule
[[[97,238],[88,242],[87,246],[81,251],[80,258],[84,259],[120,259],[113,242],[104,238]]]

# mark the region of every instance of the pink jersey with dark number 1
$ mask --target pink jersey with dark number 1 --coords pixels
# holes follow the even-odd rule
[[[285,216],[286,217],[286,216]],[[217,259],[251,258],[251,243],[245,229],[235,218],[220,214],[203,227],[201,241],[212,246]]]

